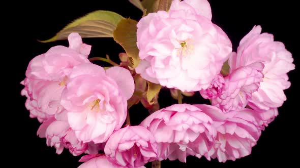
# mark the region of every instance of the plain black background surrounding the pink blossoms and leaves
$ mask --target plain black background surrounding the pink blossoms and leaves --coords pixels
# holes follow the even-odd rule
[[[296,108],[298,91],[297,86],[299,72],[298,34],[296,22],[298,11],[296,1],[216,1],[211,0],[213,22],[219,25],[229,36],[236,51],[239,40],[246,35],[254,25],[261,25],[263,32],[275,35],[275,40],[282,41],[287,50],[293,54],[296,69],[289,73],[291,87],[285,91],[287,101],[279,108],[279,116],[269,127],[263,131],[257,145],[253,147],[252,154],[236,161],[219,163],[217,159],[207,161],[205,158],[189,156],[187,163],[179,161],[162,161],[162,167],[248,167],[248,166],[292,166],[297,165],[299,159],[298,140],[298,116]],[[2,121],[7,122],[4,130],[9,136],[2,137],[3,150],[7,154],[5,161],[12,165],[24,167],[77,167],[79,156],[72,156],[68,150],[61,155],[55,154],[55,149],[47,147],[46,140],[37,137],[36,132],[39,122],[35,118],[29,118],[29,112],[24,107],[25,98],[20,96],[23,88],[19,82],[25,77],[28,62],[35,56],[45,53],[56,45],[68,46],[67,41],[42,44],[37,39],[48,39],[61,30],[72,20],[95,10],[109,10],[139,20],[142,12],[131,5],[127,0],[112,1],[82,1],[70,2],[62,5],[62,2],[16,3],[10,12],[17,17],[8,19],[8,28],[12,31],[7,39],[9,51],[6,57],[9,59],[10,76],[13,76],[13,87],[9,90],[9,106]],[[7,13],[7,15],[10,15]],[[7,15],[6,16],[7,18]],[[8,17],[10,18],[10,17]],[[7,27],[7,26],[6,26]],[[4,33],[4,36],[7,34]],[[92,53],[89,57],[104,57],[108,54],[117,61],[117,55],[123,52],[122,48],[114,43],[112,38],[83,39],[84,43],[92,45]],[[297,46],[296,46],[297,45]],[[5,64],[3,64],[5,66]],[[167,90],[160,93],[161,107],[176,103],[169,96]],[[193,98],[185,98],[184,103],[207,103],[197,93]],[[10,104],[11,103],[11,104]],[[147,111],[141,105],[137,105],[130,111],[133,124],[139,122],[147,115]],[[16,160],[17,158],[17,160]],[[149,163],[147,167],[149,167]],[[14,167],[14,166],[13,166]]]

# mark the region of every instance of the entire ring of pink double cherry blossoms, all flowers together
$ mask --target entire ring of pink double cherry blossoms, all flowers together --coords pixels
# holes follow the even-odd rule
[[[136,88],[131,71],[89,62],[91,46],[71,33],[69,48],[56,46],[35,57],[21,82],[25,106],[41,122],[38,135],[57,154],[64,148],[88,154],[81,168],[186,162],[189,155],[225,162],[249,155],[286,100],[293,58],[260,26],[232,52],[229,38],[211,19],[206,0],[175,0],[168,12],[143,17],[135,71],[166,88],[199,91],[212,105],[175,104],[140,125],[123,126]],[[229,72],[221,74],[227,60]]]

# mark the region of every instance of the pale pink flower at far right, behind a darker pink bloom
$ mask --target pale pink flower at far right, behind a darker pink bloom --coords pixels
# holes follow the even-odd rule
[[[272,34],[261,34],[261,27],[254,26],[239,43],[236,56],[229,58],[230,70],[256,61],[263,61],[264,77],[260,88],[249,98],[248,105],[256,111],[272,111],[286,100],[283,90],[290,87],[287,72],[295,68],[293,58],[283,43],[274,41]]]

